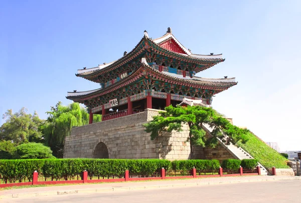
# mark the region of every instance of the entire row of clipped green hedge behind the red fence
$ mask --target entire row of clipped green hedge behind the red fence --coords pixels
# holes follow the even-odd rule
[[[236,170],[239,166],[254,168],[257,161],[253,159],[227,159],[223,168]],[[141,175],[152,175],[161,168],[166,170],[217,170],[218,160],[176,160],[165,159],[20,159],[0,160],[0,178],[5,182],[32,181],[33,171],[43,174],[45,180],[80,178],[83,170],[89,177],[123,177],[124,171]]]

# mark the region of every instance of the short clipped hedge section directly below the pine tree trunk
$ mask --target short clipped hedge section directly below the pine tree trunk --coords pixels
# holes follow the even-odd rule
[[[173,170],[190,170],[195,167],[197,170],[217,170],[220,167],[218,160],[175,160],[172,162]]]

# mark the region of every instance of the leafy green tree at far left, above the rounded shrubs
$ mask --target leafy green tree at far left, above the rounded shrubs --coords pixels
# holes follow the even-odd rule
[[[2,117],[6,119],[0,127],[0,140],[13,141],[14,143],[41,142],[42,133],[39,126],[43,120],[39,119],[38,114],[27,114],[27,109],[22,108],[13,114],[8,110]]]

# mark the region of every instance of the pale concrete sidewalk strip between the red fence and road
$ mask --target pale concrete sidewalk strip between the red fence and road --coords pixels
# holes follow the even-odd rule
[[[175,180],[152,180],[137,182],[112,182],[95,184],[58,185],[46,187],[29,187],[20,189],[0,190],[0,198],[33,197],[44,195],[72,194],[72,193],[94,193],[113,192],[125,190],[158,189],[167,187],[186,187],[213,184],[227,184],[239,182],[277,181],[277,180],[301,180],[299,176],[234,176],[216,178],[191,178]]]

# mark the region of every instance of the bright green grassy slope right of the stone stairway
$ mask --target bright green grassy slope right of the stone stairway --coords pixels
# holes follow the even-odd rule
[[[289,168],[289,166],[286,165],[286,161],[288,161],[286,158],[266,145],[254,134],[249,133],[247,138],[249,138],[249,140],[245,144],[238,143],[238,145],[257,159],[265,168],[271,168],[273,166],[276,168]]]

